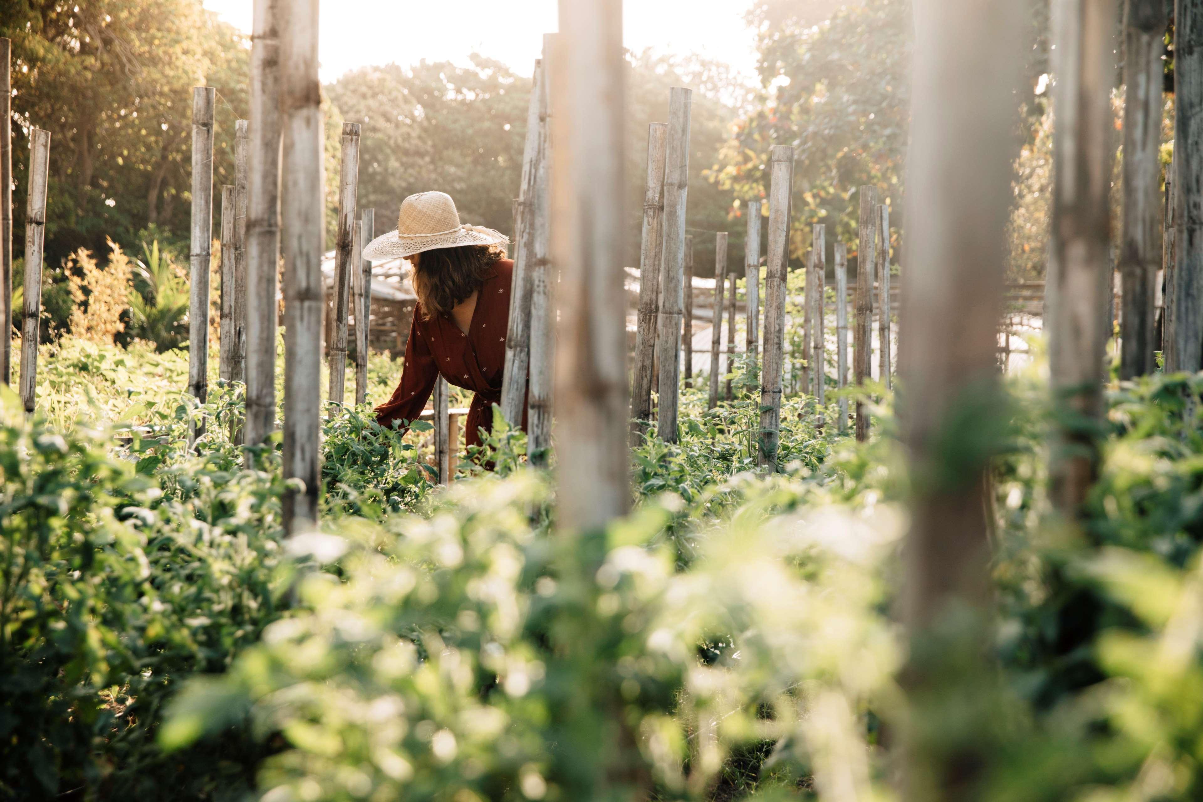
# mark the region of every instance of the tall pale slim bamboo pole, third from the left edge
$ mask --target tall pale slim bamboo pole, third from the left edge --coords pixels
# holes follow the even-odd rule
[[[209,263],[213,260],[213,112],[217,90],[192,89],[192,228],[188,304],[188,392],[202,404],[209,391]],[[192,433],[200,436],[205,424]]]

